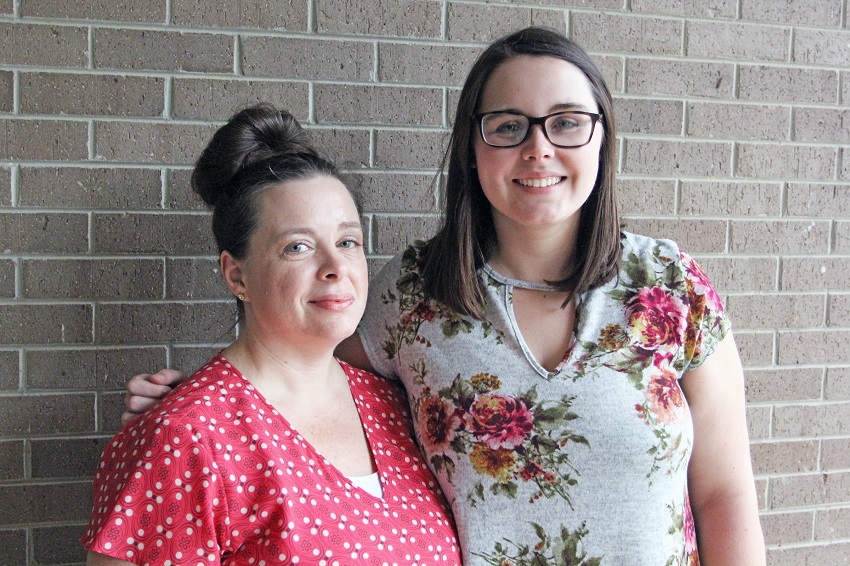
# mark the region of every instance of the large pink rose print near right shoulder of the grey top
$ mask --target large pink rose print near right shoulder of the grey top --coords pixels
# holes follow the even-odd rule
[[[633,339],[646,349],[682,342],[685,305],[659,287],[641,289],[626,305]]]

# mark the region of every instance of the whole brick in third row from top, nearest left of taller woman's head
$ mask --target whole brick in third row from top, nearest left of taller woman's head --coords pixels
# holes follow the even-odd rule
[[[316,121],[320,124],[443,124],[440,89],[320,84],[314,90]]]

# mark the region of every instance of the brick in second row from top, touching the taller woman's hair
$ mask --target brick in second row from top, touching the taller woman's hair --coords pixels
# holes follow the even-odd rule
[[[378,80],[461,86],[481,49],[450,45],[378,44]]]

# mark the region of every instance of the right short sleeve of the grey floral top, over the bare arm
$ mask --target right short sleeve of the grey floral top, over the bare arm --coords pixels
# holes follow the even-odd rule
[[[687,294],[688,320],[685,330],[685,370],[695,369],[710,356],[731,329],[720,296],[697,261],[680,251]]]

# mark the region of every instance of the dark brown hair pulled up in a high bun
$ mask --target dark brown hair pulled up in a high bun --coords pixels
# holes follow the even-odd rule
[[[192,189],[213,209],[212,229],[219,253],[236,259],[248,253],[260,217],[260,197],[273,185],[327,175],[348,188],[336,166],[310,144],[298,121],[270,104],[233,115],[213,135],[195,163]],[[239,314],[242,316],[242,304]]]

